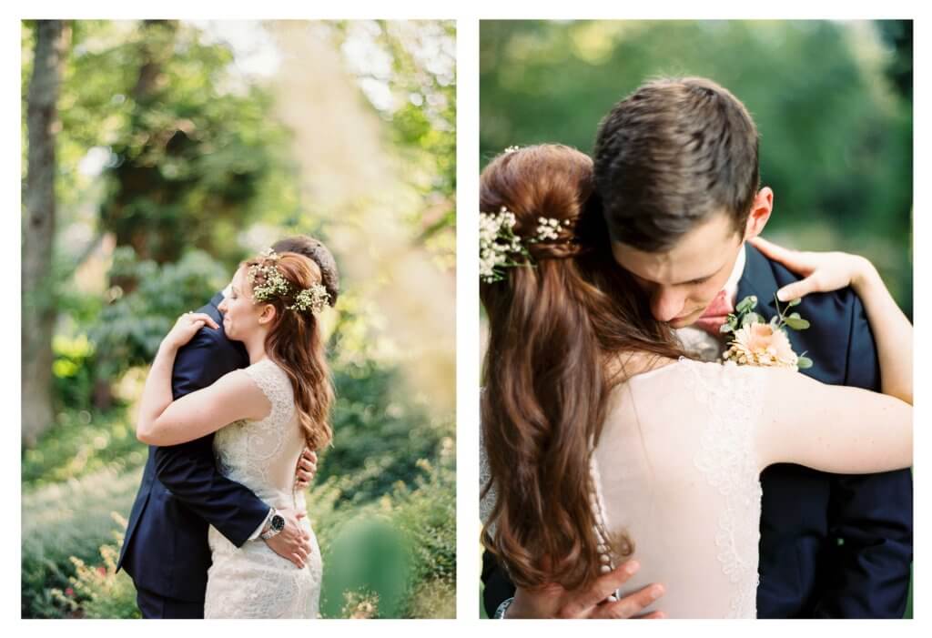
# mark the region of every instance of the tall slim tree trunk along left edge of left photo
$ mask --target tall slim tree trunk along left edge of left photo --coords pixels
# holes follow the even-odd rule
[[[62,20],[36,20],[33,77],[29,83],[29,133],[25,224],[22,234],[22,441],[31,444],[54,422],[52,331],[55,327],[55,137],[62,66],[71,35]]]

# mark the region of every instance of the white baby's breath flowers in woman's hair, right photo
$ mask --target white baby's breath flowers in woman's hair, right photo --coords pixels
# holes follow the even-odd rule
[[[538,217],[535,236],[525,242],[514,234],[515,224],[514,212],[504,206],[499,212],[479,213],[479,278],[486,283],[505,278],[505,268],[533,265],[525,244],[559,239],[560,226],[569,226],[570,221],[561,224],[551,217]]]

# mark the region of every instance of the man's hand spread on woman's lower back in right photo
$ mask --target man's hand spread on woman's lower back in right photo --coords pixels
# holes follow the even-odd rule
[[[514,602],[505,618],[665,618],[662,611],[644,613],[664,595],[664,586],[654,583],[615,602],[606,599],[627,582],[638,569],[628,561],[598,577],[586,590],[565,590],[560,585],[544,585],[535,590],[517,588]]]

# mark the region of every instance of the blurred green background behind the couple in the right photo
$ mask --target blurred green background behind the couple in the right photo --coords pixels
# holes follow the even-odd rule
[[[511,145],[591,153],[651,77],[719,82],[761,133],[765,235],[869,257],[912,316],[911,21],[483,20],[479,64],[483,165]]]

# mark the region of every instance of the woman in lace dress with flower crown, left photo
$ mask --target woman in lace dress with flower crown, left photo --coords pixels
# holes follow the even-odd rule
[[[304,255],[267,251],[241,264],[219,309],[227,336],[246,347],[249,367],[172,401],[178,349],[201,328],[218,328],[209,315],[186,313],[162,341],[145,381],[139,439],[175,445],[216,431],[224,475],[276,509],[305,509],[295,464],[305,446],[319,450],[332,438],[333,389],[317,319],[327,305],[320,267]],[[271,516],[263,536],[278,523],[281,516]],[[301,524],[312,548],[301,568],[266,543],[238,549],[211,527],[205,618],[316,618],[321,551],[308,520]]]

